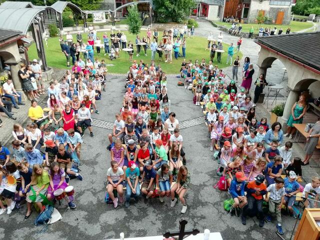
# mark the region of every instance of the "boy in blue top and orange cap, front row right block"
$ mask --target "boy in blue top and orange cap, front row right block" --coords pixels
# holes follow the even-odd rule
[[[230,144],[230,143],[229,143]],[[230,214],[235,213],[236,216],[240,215],[240,209],[246,205],[247,200],[244,195],[244,185],[246,177],[243,172],[238,171],[235,173],[235,177],[232,179],[229,192],[234,200],[234,203],[231,206]]]

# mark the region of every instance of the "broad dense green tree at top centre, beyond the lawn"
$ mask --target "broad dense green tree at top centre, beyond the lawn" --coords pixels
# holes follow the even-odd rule
[[[194,0],[153,0],[159,21],[168,19],[182,23],[189,15],[190,9],[195,8]]]

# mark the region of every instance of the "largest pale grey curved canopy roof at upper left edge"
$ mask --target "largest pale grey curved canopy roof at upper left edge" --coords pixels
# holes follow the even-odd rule
[[[26,34],[33,18],[45,8],[0,8],[0,28]]]

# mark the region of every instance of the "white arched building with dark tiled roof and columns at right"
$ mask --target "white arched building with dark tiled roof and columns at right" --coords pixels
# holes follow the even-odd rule
[[[282,34],[257,37],[261,46],[257,64],[258,75],[267,77],[268,68],[275,59],[280,60],[288,75],[287,87],[290,90],[282,116],[286,122],[291,114],[291,107],[303,91],[312,97],[320,96],[320,32]]]

